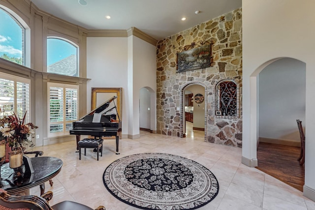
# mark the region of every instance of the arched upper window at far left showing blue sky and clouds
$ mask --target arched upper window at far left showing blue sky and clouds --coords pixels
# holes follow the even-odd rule
[[[25,65],[25,28],[0,7],[0,58]]]

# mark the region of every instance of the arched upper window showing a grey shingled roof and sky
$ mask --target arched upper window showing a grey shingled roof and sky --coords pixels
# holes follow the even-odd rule
[[[62,38],[47,38],[47,72],[78,76],[78,48]]]

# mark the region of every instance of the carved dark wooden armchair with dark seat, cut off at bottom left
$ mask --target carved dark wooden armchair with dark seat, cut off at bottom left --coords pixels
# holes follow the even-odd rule
[[[63,201],[50,206],[48,202],[52,197],[51,191],[39,197],[36,195],[11,196],[4,190],[0,190],[0,210],[93,210],[72,201]],[[105,210],[105,207],[99,206],[95,210]]]

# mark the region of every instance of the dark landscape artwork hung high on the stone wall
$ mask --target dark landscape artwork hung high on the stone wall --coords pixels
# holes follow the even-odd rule
[[[202,41],[200,43],[202,45],[209,42]],[[184,50],[186,51],[177,53],[177,72],[190,71],[211,66],[212,43],[193,48],[195,46],[198,45],[193,42],[190,45],[184,47]]]

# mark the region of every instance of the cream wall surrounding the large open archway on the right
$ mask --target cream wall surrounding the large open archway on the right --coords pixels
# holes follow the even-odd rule
[[[279,58],[306,63],[306,160],[304,195],[315,200],[315,1],[242,0],[243,10],[243,157],[256,162],[256,76]],[[308,129],[310,128],[310,129]],[[254,166],[254,164],[252,165]]]

